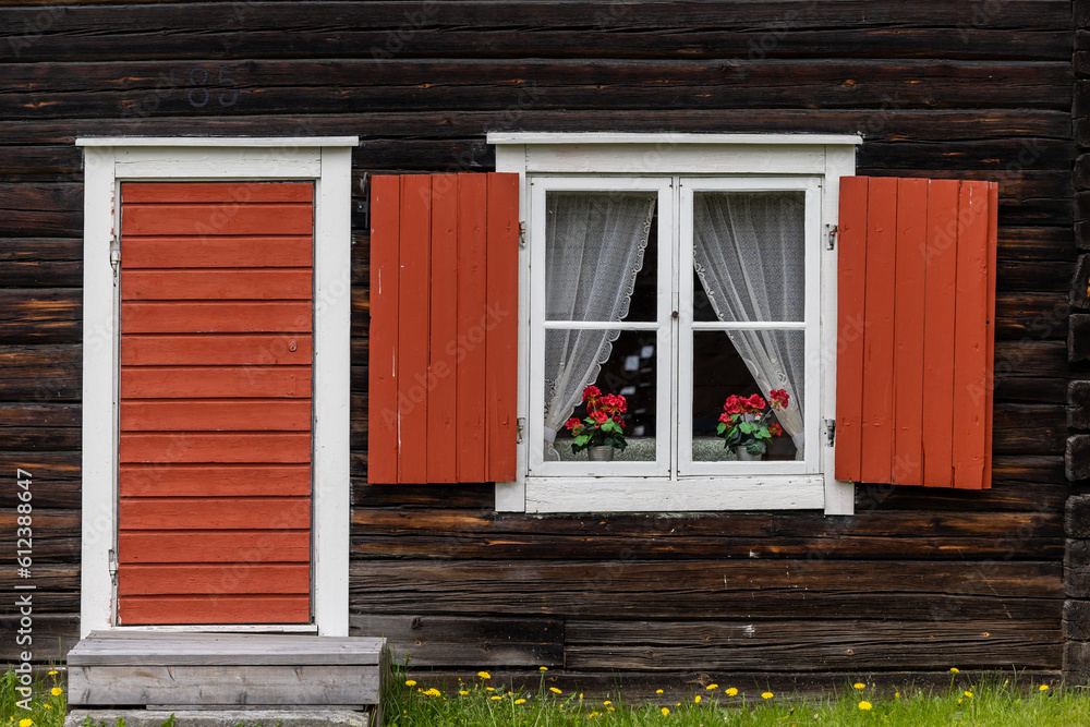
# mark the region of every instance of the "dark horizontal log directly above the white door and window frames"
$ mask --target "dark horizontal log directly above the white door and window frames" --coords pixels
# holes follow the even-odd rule
[[[877,112],[877,113],[876,113]],[[388,112],[375,109],[336,113],[300,114],[293,109],[282,114],[249,114],[202,117],[202,128],[209,135],[298,136],[336,135],[351,130],[362,138],[389,138],[392,131],[404,138],[443,140],[470,138],[486,130],[509,131],[586,131],[610,129],[621,131],[691,131],[691,132],[794,132],[809,133],[815,129],[828,133],[861,133],[869,141],[948,142],[982,138],[1052,138],[1067,140],[1071,133],[1070,110],[1049,109],[979,109],[973,111],[907,109],[884,100],[874,109],[762,109],[754,118],[750,109],[670,110],[655,108],[618,114],[597,109],[548,110],[519,109],[500,111],[427,111]],[[95,134],[131,136],[169,136],[184,134],[192,119],[179,117],[124,117],[111,114],[93,120],[40,119],[34,124],[0,120],[0,145],[51,145],[71,148],[75,137]],[[438,168],[438,167],[437,167]],[[927,175],[928,170],[921,170]],[[932,172],[934,170],[931,170]],[[73,179],[73,184],[82,182]],[[360,190],[359,185],[354,186]],[[1001,234],[1002,234],[1001,230]]]

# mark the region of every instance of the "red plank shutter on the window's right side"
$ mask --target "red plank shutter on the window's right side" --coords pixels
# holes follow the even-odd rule
[[[836,477],[991,486],[998,185],[840,180]]]

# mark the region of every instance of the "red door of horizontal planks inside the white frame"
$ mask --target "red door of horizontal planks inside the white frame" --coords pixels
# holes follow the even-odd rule
[[[313,190],[122,184],[120,625],[311,620]]]

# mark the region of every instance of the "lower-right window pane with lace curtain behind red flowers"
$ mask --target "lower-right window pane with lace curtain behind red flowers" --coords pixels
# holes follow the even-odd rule
[[[765,441],[766,460],[801,456],[804,334],[801,330],[695,331],[693,334],[692,459],[715,462],[738,459],[716,435],[730,396],[759,395],[771,409],[770,391],[785,389],[788,407],[761,419],[782,436]],[[764,384],[761,384],[761,383]],[[792,441],[794,439],[794,441]],[[796,446],[795,441],[798,441]]]

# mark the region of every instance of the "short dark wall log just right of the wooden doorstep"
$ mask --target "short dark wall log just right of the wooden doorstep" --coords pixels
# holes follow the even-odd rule
[[[349,635],[385,637],[395,663],[414,668],[558,668],[565,657],[559,619],[352,614]]]

